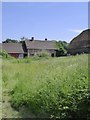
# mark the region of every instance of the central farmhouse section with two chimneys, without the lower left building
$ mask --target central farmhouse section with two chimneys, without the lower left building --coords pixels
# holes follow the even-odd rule
[[[40,52],[48,52],[50,56],[56,56],[56,41],[26,40],[25,41],[28,56],[34,56]]]

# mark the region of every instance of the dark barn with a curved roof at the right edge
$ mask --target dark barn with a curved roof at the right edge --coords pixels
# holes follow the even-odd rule
[[[68,54],[75,55],[81,53],[90,53],[90,29],[81,32],[69,44]]]

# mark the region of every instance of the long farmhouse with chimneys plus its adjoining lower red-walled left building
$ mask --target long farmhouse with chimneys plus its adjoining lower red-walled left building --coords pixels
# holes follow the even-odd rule
[[[41,52],[47,52],[54,57],[58,49],[54,40],[34,40],[34,37],[32,37],[23,43],[2,43],[2,50],[15,58],[24,58],[38,55]]]

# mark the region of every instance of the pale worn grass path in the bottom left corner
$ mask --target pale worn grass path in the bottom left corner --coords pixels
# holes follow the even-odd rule
[[[2,103],[2,118],[35,118],[32,112],[29,112],[26,108],[22,107],[20,110],[15,110],[10,104],[11,98],[8,95],[8,90],[3,92]]]

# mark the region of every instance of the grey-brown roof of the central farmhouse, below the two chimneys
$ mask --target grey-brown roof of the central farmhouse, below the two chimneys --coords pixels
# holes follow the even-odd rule
[[[26,40],[27,49],[57,49],[56,41]]]

